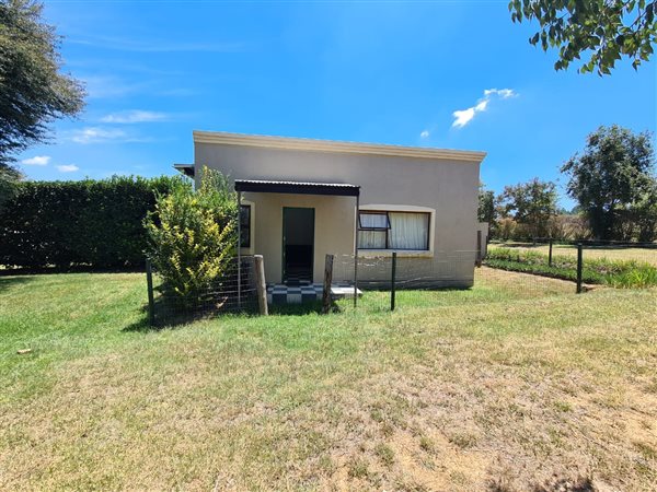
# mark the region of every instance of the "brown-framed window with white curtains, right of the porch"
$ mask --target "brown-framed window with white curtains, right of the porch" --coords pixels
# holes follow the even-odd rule
[[[359,212],[358,248],[429,249],[429,213]]]

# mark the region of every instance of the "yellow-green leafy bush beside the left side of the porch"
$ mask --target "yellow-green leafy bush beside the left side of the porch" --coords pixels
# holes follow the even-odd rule
[[[203,171],[200,189],[180,186],[159,196],[146,219],[149,256],[165,293],[192,307],[226,272],[235,254],[238,204],[221,173]]]

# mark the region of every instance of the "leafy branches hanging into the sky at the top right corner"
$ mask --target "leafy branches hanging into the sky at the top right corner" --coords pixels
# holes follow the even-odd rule
[[[657,1],[646,0],[511,0],[514,22],[538,20],[540,31],[529,43],[544,51],[558,47],[555,70],[567,69],[590,52],[578,72],[609,74],[623,56],[637,69],[653,55],[657,39]]]

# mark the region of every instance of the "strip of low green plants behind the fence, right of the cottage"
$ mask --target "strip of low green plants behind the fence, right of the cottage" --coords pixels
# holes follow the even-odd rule
[[[503,270],[535,273],[565,280],[577,279],[577,258],[553,255],[552,265],[548,256],[533,250],[492,248],[485,263]],[[657,285],[657,267],[636,260],[609,260],[585,258],[583,280],[586,283],[607,284],[614,288],[648,288]]]

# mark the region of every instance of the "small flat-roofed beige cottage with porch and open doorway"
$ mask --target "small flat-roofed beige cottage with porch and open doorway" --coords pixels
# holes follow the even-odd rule
[[[326,254],[357,251],[365,260],[396,251],[434,286],[471,286],[484,157],[194,131],[194,164],[175,167],[196,179],[203,166],[230,176],[241,202],[241,254],[263,255],[269,282],[322,282]],[[368,274],[377,273],[362,271],[359,282]]]

